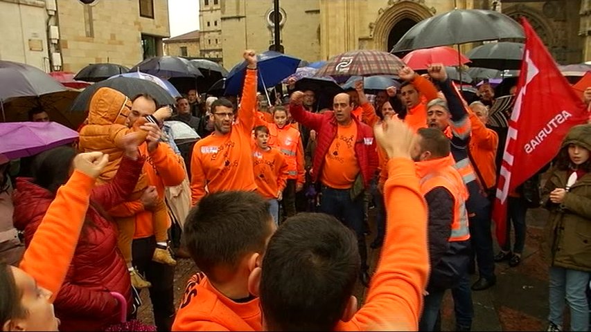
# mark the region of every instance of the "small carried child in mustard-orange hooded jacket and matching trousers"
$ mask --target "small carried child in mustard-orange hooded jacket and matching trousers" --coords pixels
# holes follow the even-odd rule
[[[109,154],[109,163],[103,169],[103,173],[98,178],[99,183],[106,183],[112,180],[121,163],[123,156],[122,138],[127,133],[136,131],[140,134],[139,139],[145,140],[146,131],[139,129],[141,124],[147,121],[161,122],[170,116],[168,107],[158,109],[152,118],[136,121],[133,128],[127,127],[128,116],[131,113],[132,102],[123,93],[103,87],[98,89],[90,100],[89,114],[86,124],[80,129],[80,142],[78,149],[82,152],[101,151]],[[148,178],[142,174],[137,182],[131,201],[140,199],[144,190],[148,187]],[[168,251],[168,212],[164,200],[159,200],[152,210],[154,215],[155,234],[157,248],[152,259],[162,264],[175,265],[176,261],[170,256]],[[132,240],[135,232],[135,223],[132,217],[117,218],[118,239],[117,245],[125,264],[130,270],[132,284],[136,288],[150,287],[139,274],[134,273],[132,266]]]

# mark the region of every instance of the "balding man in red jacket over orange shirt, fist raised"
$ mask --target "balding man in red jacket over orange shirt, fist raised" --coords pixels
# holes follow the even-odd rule
[[[360,281],[367,286],[367,248],[363,228],[364,190],[378,167],[373,129],[351,116],[353,104],[346,93],[335,95],[333,111],[311,113],[303,109],[304,93],[292,94],[292,118],[317,132],[312,161],[312,181],[320,181],[321,212],[331,214],[357,234],[362,269]]]

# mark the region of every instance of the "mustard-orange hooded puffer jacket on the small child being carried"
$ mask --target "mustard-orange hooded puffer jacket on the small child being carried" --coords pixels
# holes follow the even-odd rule
[[[133,128],[125,125],[130,115],[132,102],[123,93],[111,88],[98,89],[90,100],[89,113],[86,124],[80,129],[78,149],[81,152],[101,151],[109,154],[109,163],[98,177],[98,181],[105,183],[114,178],[121,158],[123,157],[123,136],[137,132],[138,140],[143,142],[147,131],[139,129],[145,123],[144,118],[138,119]],[[145,178],[139,180],[137,187],[145,187]]]

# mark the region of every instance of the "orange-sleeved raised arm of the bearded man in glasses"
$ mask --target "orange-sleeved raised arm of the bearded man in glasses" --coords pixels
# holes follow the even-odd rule
[[[256,54],[254,50],[245,50],[242,55],[246,62],[246,74],[242,85],[242,98],[238,109],[238,124],[240,130],[250,136],[254,128],[256,116]]]

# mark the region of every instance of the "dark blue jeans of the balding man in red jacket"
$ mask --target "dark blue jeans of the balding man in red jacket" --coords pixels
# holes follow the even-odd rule
[[[322,185],[322,199],[320,212],[335,216],[357,235],[357,245],[361,257],[361,268],[367,270],[367,248],[363,230],[363,201],[364,194],[360,194],[355,201],[351,201],[348,189],[334,189]]]

